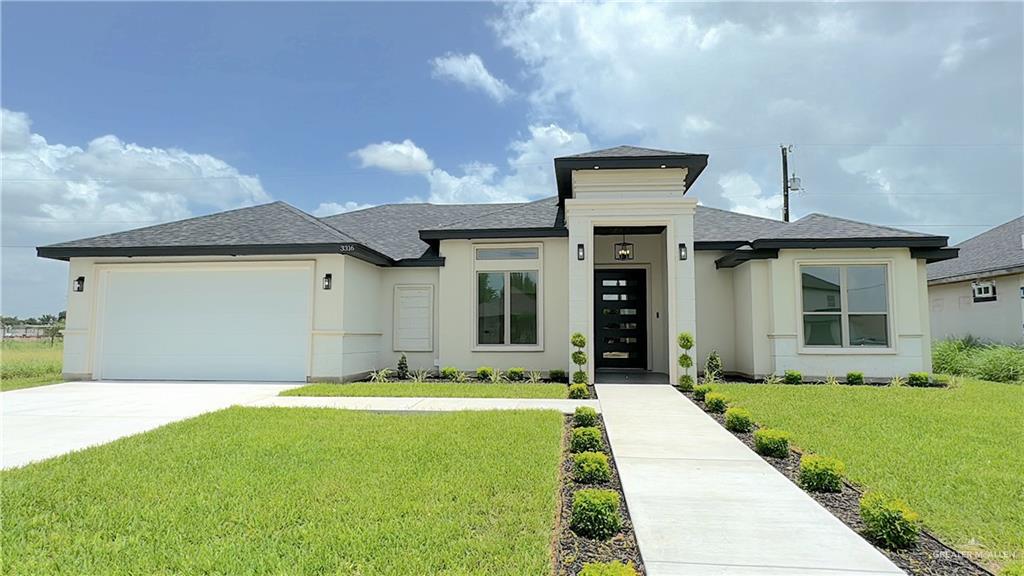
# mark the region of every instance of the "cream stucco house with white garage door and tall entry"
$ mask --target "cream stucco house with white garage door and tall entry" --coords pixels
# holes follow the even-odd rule
[[[351,379],[394,366],[806,377],[931,365],[926,262],[946,238],[699,206],[708,157],[618,147],[554,161],[524,204],[283,202],[38,249],[69,260],[69,378]]]

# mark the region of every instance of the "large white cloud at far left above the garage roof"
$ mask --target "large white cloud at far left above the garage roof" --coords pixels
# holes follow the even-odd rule
[[[3,109],[3,307],[57,312],[67,265],[32,247],[268,202],[259,177],[206,154],[114,135],[50,143],[25,113]]]

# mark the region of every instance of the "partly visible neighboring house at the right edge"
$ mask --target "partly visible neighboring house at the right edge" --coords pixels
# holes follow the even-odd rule
[[[957,244],[928,266],[932,336],[1024,341],[1024,216]]]

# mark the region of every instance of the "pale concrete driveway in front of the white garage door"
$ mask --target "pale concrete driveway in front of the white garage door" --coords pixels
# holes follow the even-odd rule
[[[68,382],[0,394],[0,467],[103,444],[300,384]]]

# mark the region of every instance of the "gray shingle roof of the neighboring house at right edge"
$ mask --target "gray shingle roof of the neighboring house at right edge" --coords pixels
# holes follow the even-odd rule
[[[961,242],[959,256],[928,264],[928,280],[1024,268],[1024,216]]]

